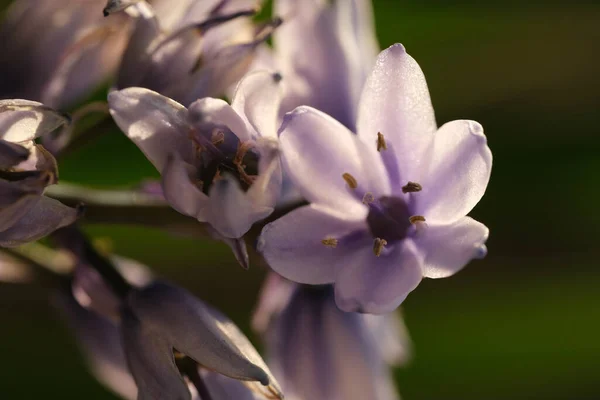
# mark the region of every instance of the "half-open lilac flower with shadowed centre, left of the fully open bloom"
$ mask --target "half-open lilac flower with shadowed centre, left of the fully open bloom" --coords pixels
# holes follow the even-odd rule
[[[142,88],[108,98],[117,125],[161,173],[171,206],[234,239],[242,262],[247,255],[238,239],[271,214],[279,196],[280,79],[267,72],[249,74],[231,105],[204,98],[186,109]]]

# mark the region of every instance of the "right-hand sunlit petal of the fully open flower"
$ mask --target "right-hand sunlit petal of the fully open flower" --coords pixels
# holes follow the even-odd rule
[[[431,162],[415,194],[417,213],[427,221],[452,223],[475,207],[485,193],[492,153],[483,128],[474,121],[453,121],[435,134]]]

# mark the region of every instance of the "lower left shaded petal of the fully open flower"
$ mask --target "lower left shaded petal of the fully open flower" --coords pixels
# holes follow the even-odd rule
[[[364,218],[352,219],[316,204],[304,206],[265,226],[258,251],[287,279],[313,285],[332,283],[335,265],[352,258],[353,243],[340,240],[336,247],[330,247],[322,241],[366,230]]]

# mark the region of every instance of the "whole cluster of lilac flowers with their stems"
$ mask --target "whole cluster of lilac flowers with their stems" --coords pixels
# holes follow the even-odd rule
[[[491,172],[481,125],[438,127],[419,64],[401,44],[378,54],[370,0],[273,3],[270,19],[258,0],[17,0],[6,15],[0,280],[51,271],[123,398],[397,399],[411,346],[395,310],[487,252],[467,216]],[[62,155],[107,123],[160,182],[57,184]],[[267,362],[215,308],[90,240],[93,218],[212,237],[246,269],[254,249],[271,269],[252,324]]]

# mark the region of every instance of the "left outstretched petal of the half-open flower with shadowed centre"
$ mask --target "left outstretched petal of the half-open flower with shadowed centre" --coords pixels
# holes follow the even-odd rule
[[[193,156],[187,110],[181,104],[144,88],[127,88],[108,95],[110,113],[159,172],[170,153],[184,161]]]

